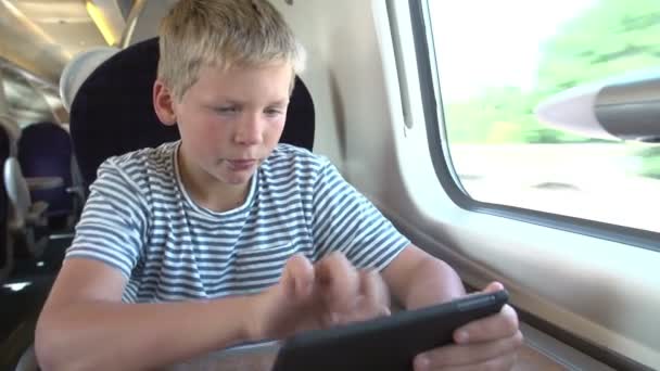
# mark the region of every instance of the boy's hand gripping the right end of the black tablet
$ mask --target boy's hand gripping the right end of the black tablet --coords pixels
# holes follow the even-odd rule
[[[483,292],[503,290],[494,282]],[[522,334],[518,316],[505,305],[497,315],[470,322],[454,332],[455,345],[426,351],[415,358],[415,371],[510,370],[516,363]]]

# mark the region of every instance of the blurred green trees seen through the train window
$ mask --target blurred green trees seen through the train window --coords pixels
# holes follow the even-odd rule
[[[444,103],[452,144],[599,142],[541,124],[534,107],[579,85],[660,67],[660,1],[596,1],[559,25],[541,52],[532,92],[497,87],[469,101]],[[643,157],[640,174],[660,178],[660,150],[646,149],[636,155]]]

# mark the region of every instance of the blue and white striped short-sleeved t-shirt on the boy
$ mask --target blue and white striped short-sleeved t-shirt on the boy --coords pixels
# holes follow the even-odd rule
[[[409,243],[328,159],[287,144],[258,167],[243,205],[203,208],[182,187],[178,144],[105,161],[66,253],[118,269],[125,302],[259,292],[295,253],[341,251],[380,270]]]

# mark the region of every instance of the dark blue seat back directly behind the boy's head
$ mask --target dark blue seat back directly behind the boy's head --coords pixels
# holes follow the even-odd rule
[[[107,157],[179,139],[161,124],[152,104],[158,62],[157,38],[122,50],[80,86],[71,107],[71,135],[85,189]],[[312,150],[314,103],[296,77],[281,142]]]

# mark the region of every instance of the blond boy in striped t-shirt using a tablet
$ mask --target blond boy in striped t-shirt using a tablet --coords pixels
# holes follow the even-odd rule
[[[265,0],[182,0],[153,103],[181,140],[107,159],[40,316],[43,369],[152,369],[465,294],[323,157],[279,144],[303,53]],[[494,283],[486,290],[502,289]],[[510,307],[417,370],[509,369]]]

